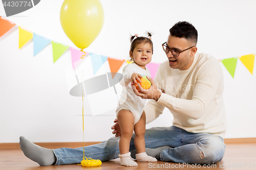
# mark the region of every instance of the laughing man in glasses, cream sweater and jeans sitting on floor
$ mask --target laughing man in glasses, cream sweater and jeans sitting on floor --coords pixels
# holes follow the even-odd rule
[[[161,161],[212,164],[225,153],[223,73],[216,58],[196,53],[197,37],[193,25],[177,22],[162,44],[168,60],[159,66],[156,83],[148,78],[152,82],[150,89],[138,85],[139,92],[133,88],[141,98],[153,99],[144,108],[146,123],[156,119],[165,107],[174,116],[173,126],[151,128],[145,133],[146,153]],[[121,135],[118,122],[112,129],[117,137]],[[118,158],[117,137],[86,147],[85,156],[101,161]],[[20,148],[40,165],[78,163],[83,157],[83,148],[49,150],[24,137],[20,137]],[[130,151],[135,155],[134,136]]]

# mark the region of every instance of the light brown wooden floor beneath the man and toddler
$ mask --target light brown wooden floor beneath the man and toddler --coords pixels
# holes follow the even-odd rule
[[[138,162],[138,166],[121,166],[119,159],[102,162],[98,167],[82,167],[81,165],[52,165],[39,166],[37,163],[28,159],[20,149],[0,150],[0,170],[35,170],[35,169],[255,169],[256,170],[256,143],[247,144],[226,144],[225,156],[221,162],[216,165],[201,167],[193,165],[181,165],[169,162]],[[176,167],[175,167],[176,166]],[[190,166],[190,167],[189,167]]]

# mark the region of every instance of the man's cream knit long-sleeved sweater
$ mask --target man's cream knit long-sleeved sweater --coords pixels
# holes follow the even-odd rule
[[[187,70],[170,68],[167,60],[159,66],[155,82],[165,93],[157,102],[150,100],[145,105],[146,123],[156,119],[167,107],[174,116],[173,126],[224,138],[223,72],[216,58],[197,53]]]

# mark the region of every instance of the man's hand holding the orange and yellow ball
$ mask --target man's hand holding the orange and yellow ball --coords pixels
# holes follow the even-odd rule
[[[154,99],[158,101],[161,96],[161,92],[158,90],[156,83],[154,80],[147,76],[147,79],[151,82],[151,87],[149,89],[143,89],[140,84],[138,84],[139,90],[138,91],[135,85],[132,86],[133,91],[136,95],[140,96],[142,99]]]

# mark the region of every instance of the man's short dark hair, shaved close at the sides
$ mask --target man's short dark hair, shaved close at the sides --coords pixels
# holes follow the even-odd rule
[[[179,21],[169,30],[170,35],[193,40],[197,44],[198,33],[196,28],[187,21]]]

